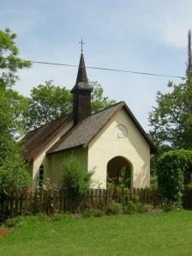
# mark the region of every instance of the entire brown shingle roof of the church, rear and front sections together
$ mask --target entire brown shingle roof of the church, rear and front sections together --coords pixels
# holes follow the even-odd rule
[[[80,124],[73,126],[66,134],[55,143],[48,154],[54,154],[64,150],[75,149],[79,147],[86,148],[87,145],[97,136],[99,131],[107,124],[117,111],[123,108],[129,115],[130,119],[135,123],[137,129],[141,131],[142,136],[147,140],[150,146],[151,153],[155,153],[155,146],[151,138],[142,129],[141,125],[135,119],[134,114],[129,110],[129,107],[122,101],[107,107],[97,113],[93,113],[87,119],[84,119]],[[59,131],[73,118],[72,114],[65,115],[59,119],[52,121],[47,125],[43,125],[38,129],[29,131],[22,139],[22,144],[25,148],[24,157],[28,162],[33,160],[33,157],[42,150],[47,143],[54,138]]]

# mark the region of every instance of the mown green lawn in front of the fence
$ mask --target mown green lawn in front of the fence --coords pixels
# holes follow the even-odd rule
[[[0,255],[191,255],[192,212],[74,219],[27,216]]]

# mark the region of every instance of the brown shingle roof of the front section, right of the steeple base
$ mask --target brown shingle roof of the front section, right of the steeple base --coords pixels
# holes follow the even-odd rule
[[[133,120],[137,128],[141,131],[142,135],[149,143],[151,152],[154,151],[154,145],[147,133],[142,129],[141,125],[135,119],[133,113],[130,112],[129,107],[124,102],[119,102],[111,107],[105,108],[102,111],[93,113],[91,116],[84,119],[79,125],[72,127],[63,137],[61,137],[55,145],[51,147],[48,154],[57,153],[69,149],[75,149],[84,146],[87,147],[99,131],[105,126],[105,124],[117,113],[117,110],[124,108],[129,114],[129,117]]]

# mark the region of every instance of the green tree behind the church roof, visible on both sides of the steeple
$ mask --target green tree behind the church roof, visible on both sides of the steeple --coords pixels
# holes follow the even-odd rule
[[[115,103],[104,96],[104,90],[98,82],[90,82],[93,86],[92,110],[99,111]],[[29,107],[25,114],[27,130],[45,125],[73,109],[73,95],[68,88],[55,86],[53,81],[46,81],[33,88],[28,99]]]

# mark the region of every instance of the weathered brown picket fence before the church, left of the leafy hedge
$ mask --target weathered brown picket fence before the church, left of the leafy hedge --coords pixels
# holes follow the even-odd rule
[[[120,189],[91,189],[81,204],[69,200],[67,190],[35,190],[12,192],[10,195],[0,194],[0,216],[54,214],[57,211],[75,212],[90,208],[105,207],[112,200],[123,203],[138,195],[142,204],[158,204],[158,192],[150,189],[134,189],[128,192]]]

